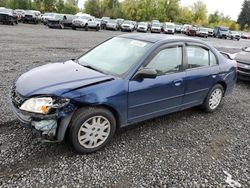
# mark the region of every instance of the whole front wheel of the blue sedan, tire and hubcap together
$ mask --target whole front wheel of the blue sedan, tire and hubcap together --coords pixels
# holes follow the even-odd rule
[[[109,143],[115,133],[114,115],[105,108],[81,108],[72,117],[69,142],[79,153],[92,153]]]

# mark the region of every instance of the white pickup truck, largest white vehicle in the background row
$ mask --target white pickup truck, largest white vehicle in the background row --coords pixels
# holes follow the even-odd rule
[[[96,31],[100,30],[100,22],[95,20],[95,17],[89,15],[78,15],[72,21],[72,29],[76,30],[76,28],[85,28],[88,31],[89,28],[96,29]]]

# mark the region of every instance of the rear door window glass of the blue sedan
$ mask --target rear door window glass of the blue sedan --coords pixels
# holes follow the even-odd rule
[[[187,46],[188,69],[209,66],[209,51],[199,46]]]

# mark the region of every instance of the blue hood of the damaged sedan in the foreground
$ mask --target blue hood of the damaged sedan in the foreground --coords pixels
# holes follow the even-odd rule
[[[114,79],[74,61],[50,63],[21,75],[15,82],[16,91],[25,97],[33,95],[63,95],[76,88]]]

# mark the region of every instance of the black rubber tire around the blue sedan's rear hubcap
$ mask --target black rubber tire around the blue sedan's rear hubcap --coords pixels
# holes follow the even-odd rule
[[[215,92],[215,90],[220,90],[222,96],[221,96],[221,99],[220,99],[220,101],[219,101],[219,104],[218,104],[215,108],[212,108],[212,107],[210,106],[209,103],[210,103],[211,96],[212,96],[212,94]],[[222,99],[223,99],[223,96],[224,96],[224,88],[223,88],[223,86],[222,86],[221,84],[216,84],[216,85],[215,85],[214,87],[212,87],[212,89],[209,91],[209,93],[208,93],[208,95],[207,95],[207,97],[206,97],[206,99],[205,99],[205,101],[204,101],[204,103],[203,103],[203,105],[202,105],[202,108],[204,109],[204,111],[205,111],[205,112],[209,112],[209,113],[216,111],[216,110],[219,108],[220,104],[221,104],[221,101],[222,101]]]

